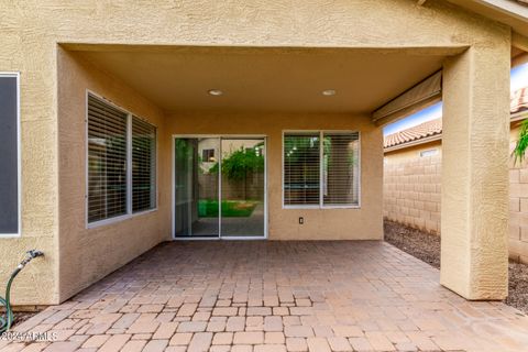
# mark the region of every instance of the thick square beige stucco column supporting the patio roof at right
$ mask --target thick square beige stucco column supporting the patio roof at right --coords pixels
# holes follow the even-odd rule
[[[472,300],[507,296],[509,59],[491,36],[444,63],[440,283]]]

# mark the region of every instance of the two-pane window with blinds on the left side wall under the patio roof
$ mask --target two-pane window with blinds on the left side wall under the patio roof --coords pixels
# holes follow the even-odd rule
[[[156,208],[156,128],[88,95],[88,223]]]

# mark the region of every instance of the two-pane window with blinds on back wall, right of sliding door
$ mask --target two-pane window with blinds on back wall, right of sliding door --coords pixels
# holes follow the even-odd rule
[[[359,206],[358,132],[284,134],[284,205]]]

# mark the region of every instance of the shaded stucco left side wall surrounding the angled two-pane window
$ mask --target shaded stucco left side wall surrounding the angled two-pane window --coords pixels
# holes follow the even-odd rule
[[[170,169],[164,161],[164,114],[136,91],[90,63],[58,51],[59,294],[69,297],[169,239]],[[157,209],[88,228],[86,219],[86,99],[101,96],[157,128]]]

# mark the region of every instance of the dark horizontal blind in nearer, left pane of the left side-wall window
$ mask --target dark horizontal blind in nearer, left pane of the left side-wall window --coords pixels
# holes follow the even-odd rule
[[[88,96],[88,221],[127,213],[128,114]]]

